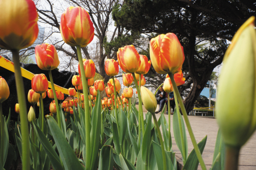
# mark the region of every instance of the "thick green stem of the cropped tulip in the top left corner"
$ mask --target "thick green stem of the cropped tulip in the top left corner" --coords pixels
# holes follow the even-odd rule
[[[29,148],[29,126],[28,126],[28,112],[26,108],[26,98],[24,91],[24,83],[22,77],[22,71],[19,64],[19,50],[11,50],[14,63],[15,83],[17,89],[18,103],[19,103],[19,115],[22,131],[22,169],[30,169],[30,148]]]

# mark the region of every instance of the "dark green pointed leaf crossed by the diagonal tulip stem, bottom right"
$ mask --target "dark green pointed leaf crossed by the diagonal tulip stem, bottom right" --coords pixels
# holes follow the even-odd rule
[[[204,151],[206,140],[207,140],[207,135],[198,143],[198,148],[201,154]],[[183,170],[196,170],[198,168],[198,164],[199,164],[199,160],[197,158],[195,149],[193,149],[186,160]]]

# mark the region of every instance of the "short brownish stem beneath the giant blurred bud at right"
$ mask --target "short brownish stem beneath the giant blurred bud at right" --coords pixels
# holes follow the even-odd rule
[[[238,170],[240,148],[233,148],[226,145],[225,170]]]

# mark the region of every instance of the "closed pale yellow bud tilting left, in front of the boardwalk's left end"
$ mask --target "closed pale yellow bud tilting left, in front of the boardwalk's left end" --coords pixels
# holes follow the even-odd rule
[[[155,95],[146,87],[141,86],[141,100],[145,109],[151,113],[155,113],[157,108],[157,100]]]

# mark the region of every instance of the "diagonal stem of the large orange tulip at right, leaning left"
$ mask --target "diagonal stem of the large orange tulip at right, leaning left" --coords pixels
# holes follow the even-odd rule
[[[206,170],[206,166],[205,166],[204,160],[202,158],[201,152],[200,152],[200,150],[198,148],[198,145],[197,145],[197,140],[195,138],[195,135],[193,133],[193,130],[192,130],[191,125],[190,125],[189,120],[188,120],[186,109],[185,109],[184,104],[182,102],[182,99],[181,99],[178,87],[177,87],[177,85],[175,83],[174,75],[172,73],[168,73],[168,75],[170,77],[170,80],[172,81],[174,92],[177,94],[177,98],[178,98],[178,101],[179,101],[179,104],[180,104],[180,108],[181,108],[181,111],[183,113],[183,117],[184,117],[184,120],[185,120],[185,123],[186,123],[186,126],[187,126],[187,130],[188,130],[189,136],[191,138],[191,141],[193,143],[193,146],[194,146],[197,158],[198,158],[198,160],[200,162],[200,165],[201,165],[202,169]]]

